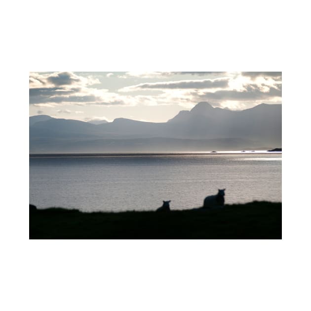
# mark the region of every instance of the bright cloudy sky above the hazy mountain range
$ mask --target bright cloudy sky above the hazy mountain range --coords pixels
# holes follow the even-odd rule
[[[31,72],[30,116],[166,122],[202,101],[244,110],[281,104],[281,72]]]

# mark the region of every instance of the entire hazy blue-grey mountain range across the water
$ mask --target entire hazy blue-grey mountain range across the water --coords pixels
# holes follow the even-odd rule
[[[96,124],[99,123],[99,124]],[[131,153],[271,149],[281,146],[282,106],[231,111],[200,102],[167,122],[84,122],[29,117],[30,153]]]

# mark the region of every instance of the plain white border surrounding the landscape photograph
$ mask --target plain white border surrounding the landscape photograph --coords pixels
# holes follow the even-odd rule
[[[304,2],[100,3],[5,4],[3,310],[307,310]],[[283,71],[283,240],[28,240],[28,73],[58,70]]]

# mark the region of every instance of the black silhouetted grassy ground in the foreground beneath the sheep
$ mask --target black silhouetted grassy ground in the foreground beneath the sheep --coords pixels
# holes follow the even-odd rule
[[[83,213],[30,206],[30,239],[281,239],[282,203],[215,210]]]

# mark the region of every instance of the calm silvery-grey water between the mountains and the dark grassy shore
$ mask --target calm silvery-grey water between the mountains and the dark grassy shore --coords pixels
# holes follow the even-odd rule
[[[281,201],[281,154],[30,157],[30,203],[83,211],[202,205],[226,188],[226,203]]]

